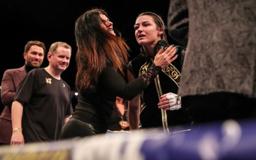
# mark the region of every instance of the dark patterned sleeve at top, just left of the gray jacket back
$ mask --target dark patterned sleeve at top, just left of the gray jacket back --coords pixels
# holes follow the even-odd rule
[[[186,0],[170,0],[167,27],[169,36],[186,47],[189,27]]]

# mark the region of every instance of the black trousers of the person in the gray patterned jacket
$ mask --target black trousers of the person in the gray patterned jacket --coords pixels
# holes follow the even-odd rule
[[[182,107],[187,109],[195,124],[256,118],[256,98],[237,93],[218,92],[184,96]]]

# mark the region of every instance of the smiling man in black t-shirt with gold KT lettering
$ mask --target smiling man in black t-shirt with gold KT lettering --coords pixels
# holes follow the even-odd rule
[[[64,121],[72,114],[70,87],[61,79],[70,56],[70,45],[55,42],[47,54],[48,67],[22,78],[12,104],[11,145],[60,138]]]

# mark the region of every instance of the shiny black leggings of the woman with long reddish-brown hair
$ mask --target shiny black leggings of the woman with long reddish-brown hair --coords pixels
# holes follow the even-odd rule
[[[63,126],[61,131],[61,138],[74,138],[84,137],[91,135],[98,135],[99,129],[91,124],[83,122],[81,120],[70,118],[68,122]]]

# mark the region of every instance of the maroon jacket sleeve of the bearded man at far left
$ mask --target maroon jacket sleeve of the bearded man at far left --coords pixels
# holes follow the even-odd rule
[[[13,82],[13,76],[8,70],[4,72],[1,86],[2,103],[4,105],[11,106],[15,96],[15,86]]]

